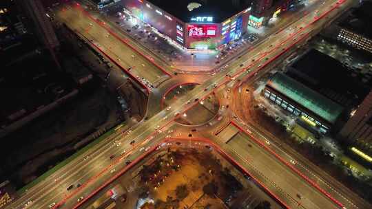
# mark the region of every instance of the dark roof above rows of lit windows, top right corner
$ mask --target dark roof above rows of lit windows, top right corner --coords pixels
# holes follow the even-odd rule
[[[362,5],[349,14],[339,25],[358,34],[362,34],[372,39],[372,2],[364,1]]]

